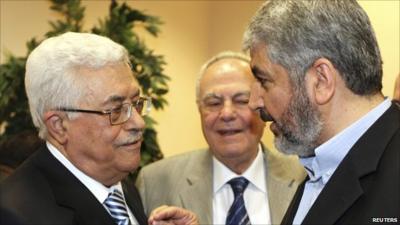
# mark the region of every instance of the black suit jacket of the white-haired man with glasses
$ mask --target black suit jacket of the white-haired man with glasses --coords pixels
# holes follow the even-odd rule
[[[147,224],[134,184],[123,182],[123,189],[135,218]],[[43,146],[0,185],[0,224],[116,223],[96,197]]]

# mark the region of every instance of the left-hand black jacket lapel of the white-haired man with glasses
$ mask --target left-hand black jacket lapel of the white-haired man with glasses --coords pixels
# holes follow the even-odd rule
[[[47,148],[40,154],[37,166],[48,178],[57,204],[70,210],[77,224],[115,225],[96,197]]]

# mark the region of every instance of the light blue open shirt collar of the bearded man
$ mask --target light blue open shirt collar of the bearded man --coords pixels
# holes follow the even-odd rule
[[[390,100],[386,98],[352,125],[317,147],[314,157],[300,158],[310,181],[314,182],[322,178],[322,182],[326,184],[357,140],[382,116],[390,105]]]

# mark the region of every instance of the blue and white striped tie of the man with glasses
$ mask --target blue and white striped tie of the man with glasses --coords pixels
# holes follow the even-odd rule
[[[115,189],[114,192],[110,193],[107,199],[104,201],[104,205],[107,207],[114,221],[118,225],[130,225],[128,211],[126,209],[125,200],[122,193]]]

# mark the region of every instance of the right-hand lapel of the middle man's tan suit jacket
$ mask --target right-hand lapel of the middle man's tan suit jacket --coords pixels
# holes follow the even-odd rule
[[[282,167],[279,160],[275,159],[270,152],[265,151],[264,157],[267,166],[266,180],[271,222],[279,224],[297,186],[294,184],[294,180],[282,179],[279,176]]]

